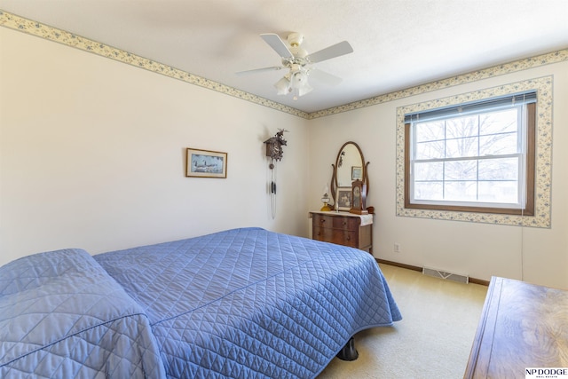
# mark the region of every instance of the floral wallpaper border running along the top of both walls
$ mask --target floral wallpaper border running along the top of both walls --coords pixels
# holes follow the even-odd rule
[[[312,120],[319,117],[325,117],[331,114],[339,114],[351,110],[372,107],[377,104],[386,103],[396,99],[404,99],[410,96],[418,95],[424,92],[437,91],[444,88],[452,87],[464,83],[477,82],[493,76],[510,74],[517,71],[522,71],[528,68],[540,67],[552,63],[562,62],[568,60],[568,49],[542,54],[533,58],[521,59],[515,62],[486,68],[483,70],[475,71],[469,74],[457,75],[444,80],[439,80],[432,83],[418,85],[406,90],[390,92],[381,96],[376,96],[370,99],[356,101],[350,104],[345,104],[340,107],[333,107],[324,109],[318,112],[306,113],[293,107],[288,107],[269,99],[264,99],[251,93],[237,90],[222,83],[217,83],[207,78],[193,75],[185,71],[179,70],[175,67],[163,65],[159,62],[154,62],[151,59],[146,59],[128,51],[122,51],[104,43],[98,43],[91,39],[82,36],[76,36],[73,33],[60,30],[58,28],[51,28],[43,25],[34,20],[24,19],[15,14],[4,12],[0,10],[0,26],[5,28],[12,28],[21,32],[27,33],[32,36],[38,36],[50,41],[62,43],[76,49],[89,51],[94,54],[114,59],[131,66],[144,68],[157,74],[170,76],[171,78],[198,85],[203,88],[208,88],[212,91],[224,93],[225,95],[233,96],[235,98],[250,101],[252,103],[270,107],[288,114],[294,114],[307,120]]]

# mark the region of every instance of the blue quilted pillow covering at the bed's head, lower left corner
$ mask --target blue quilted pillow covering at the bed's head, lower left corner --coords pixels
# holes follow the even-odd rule
[[[160,378],[143,308],[85,251],[0,267],[0,377]]]

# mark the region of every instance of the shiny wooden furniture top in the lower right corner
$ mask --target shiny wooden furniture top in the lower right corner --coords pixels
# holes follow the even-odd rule
[[[568,367],[568,291],[493,277],[463,377],[525,378],[530,367]]]

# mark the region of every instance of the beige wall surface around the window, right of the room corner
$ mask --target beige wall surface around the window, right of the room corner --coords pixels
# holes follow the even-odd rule
[[[492,88],[529,78],[554,75],[552,227],[540,229],[396,216],[397,107]],[[310,140],[311,206],[346,140],[361,146],[370,162],[367,205],[376,209],[374,254],[407,265],[428,266],[489,280],[522,279],[568,288],[568,62],[431,91],[359,110],[312,120]],[[394,243],[402,252],[394,253]]]

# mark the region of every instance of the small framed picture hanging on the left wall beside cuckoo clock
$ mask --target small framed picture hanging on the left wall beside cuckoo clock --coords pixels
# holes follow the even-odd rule
[[[227,154],[187,148],[185,176],[191,178],[227,178]]]

